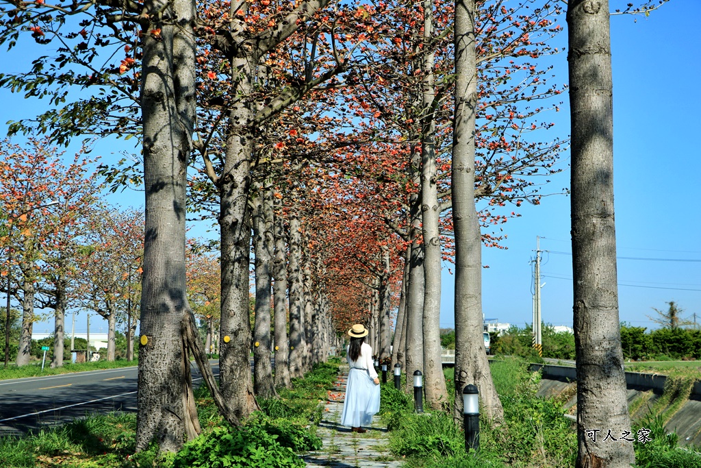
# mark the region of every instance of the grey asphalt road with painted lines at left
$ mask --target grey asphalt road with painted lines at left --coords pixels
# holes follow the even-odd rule
[[[193,363],[193,383],[201,377]],[[219,374],[219,364],[212,362]],[[0,380],[0,436],[69,422],[86,413],[136,411],[137,368]]]

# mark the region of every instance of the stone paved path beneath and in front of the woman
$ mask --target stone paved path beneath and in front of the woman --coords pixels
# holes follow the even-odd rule
[[[329,392],[324,415],[318,427],[318,436],[324,445],[320,450],[303,457],[307,468],[399,468],[389,451],[389,435],[381,426],[379,417],[373,418],[372,426],[365,434],[351,432],[350,427],[341,426],[343,395],[346,393],[348,368],[336,380],[335,389]]]

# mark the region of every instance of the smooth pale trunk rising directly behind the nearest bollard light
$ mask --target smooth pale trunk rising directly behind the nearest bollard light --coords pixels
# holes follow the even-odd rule
[[[488,420],[501,421],[504,410],[491,379],[482,338],[482,235],[475,207],[475,0],[456,0],[455,51],[456,91],[452,163],[456,250],[453,408],[456,419],[462,419],[463,388],[473,384],[479,390],[480,412]]]

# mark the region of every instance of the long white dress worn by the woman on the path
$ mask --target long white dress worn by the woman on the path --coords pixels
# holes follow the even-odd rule
[[[358,361],[351,361],[351,356],[348,356],[348,365],[351,369],[348,371],[348,382],[346,382],[346,399],[343,401],[341,425],[369,426],[372,416],[380,410],[380,386],[373,382],[377,372],[372,365],[372,347],[363,343],[360,346]]]

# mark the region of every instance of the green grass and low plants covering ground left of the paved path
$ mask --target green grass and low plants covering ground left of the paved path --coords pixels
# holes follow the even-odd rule
[[[299,454],[321,448],[316,427],[326,392],[338,375],[338,360],[323,363],[280,389],[280,399],[261,400],[261,411],[240,428],[219,416],[205,387],[196,389],[203,434],[177,454],[159,454],[156,446],[135,454],[135,413],[86,415],[60,427],[0,439],[0,467],[304,467]]]

